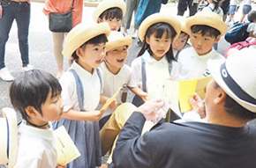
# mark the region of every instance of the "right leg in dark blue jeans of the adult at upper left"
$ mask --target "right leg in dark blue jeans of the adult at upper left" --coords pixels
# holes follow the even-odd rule
[[[30,23],[30,4],[17,3],[19,12],[16,16],[18,26],[19,51],[21,54],[22,66],[26,67],[29,64],[28,58],[28,29]]]

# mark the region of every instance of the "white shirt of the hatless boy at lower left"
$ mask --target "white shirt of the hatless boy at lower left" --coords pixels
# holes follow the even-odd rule
[[[53,129],[35,128],[22,121],[19,126],[15,168],[56,168],[57,154]]]

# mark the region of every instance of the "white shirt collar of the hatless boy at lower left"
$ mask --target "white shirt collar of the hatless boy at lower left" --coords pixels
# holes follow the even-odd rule
[[[51,122],[49,122],[49,129],[35,128],[26,124],[26,121],[22,121],[19,127],[19,132],[25,135],[32,135],[48,141],[53,140],[53,128]]]

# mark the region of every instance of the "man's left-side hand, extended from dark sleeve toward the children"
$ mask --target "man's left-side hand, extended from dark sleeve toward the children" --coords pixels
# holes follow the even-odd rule
[[[163,99],[150,99],[143,105],[138,107],[138,111],[142,113],[147,121],[154,121],[155,113],[164,106],[165,101]]]

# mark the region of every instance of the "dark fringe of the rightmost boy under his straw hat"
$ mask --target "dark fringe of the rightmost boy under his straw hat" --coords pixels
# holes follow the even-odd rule
[[[202,36],[209,35],[210,37],[217,38],[221,35],[221,32],[211,26],[192,26],[191,27],[192,33],[201,33]]]

